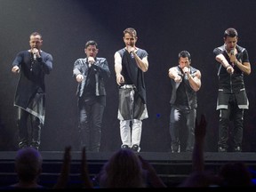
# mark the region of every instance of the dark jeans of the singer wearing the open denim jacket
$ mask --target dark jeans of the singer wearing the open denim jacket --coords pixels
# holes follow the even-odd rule
[[[100,151],[101,124],[105,109],[101,101],[101,96],[79,101],[80,147],[85,147],[86,151]]]

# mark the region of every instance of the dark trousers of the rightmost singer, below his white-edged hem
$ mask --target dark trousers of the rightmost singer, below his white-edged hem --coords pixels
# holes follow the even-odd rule
[[[234,122],[234,129],[230,132],[229,121]],[[219,148],[228,149],[228,132],[232,135],[233,148],[242,147],[244,109],[238,108],[236,98],[230,97],[228,109],[220,109]]]

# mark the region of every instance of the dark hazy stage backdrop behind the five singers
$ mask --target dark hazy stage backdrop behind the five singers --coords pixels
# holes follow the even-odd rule
[[[255,151],[255,41],[254,0],[0,0],[0,150],[17,148],[16,108],[13,97],[19,76],[12,60],[29,49],[29,35],[43,35],[45,52],[53,56],[53,70],[45,76],[46,116],[41,150],[78,150],[74,61],[84,58],[84,44],[95,40],[99,57],[111,70],[107,82],[107,108],[102,126],[102,151],[120,148],[114,53],[124,47],[123,30],[137,29],[137,46],[147,50],[145,74],[148,115],[143,121],[141,151],[169,151],[171,82],[168,69],[178,64],[178,53],[188,50],[192,66],[201,70],[197,115],[208,121],[206,151],[216,151],[218,78],[213,48],[223,44],[226,28],[236,28],[238,44],[249,52],[252,74],[244,81],[250,109],[244,116],[244,151]],[[80,150],[80,149],[79,149]]]

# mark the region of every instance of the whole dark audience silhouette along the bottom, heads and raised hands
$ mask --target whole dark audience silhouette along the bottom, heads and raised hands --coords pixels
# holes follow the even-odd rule
[[[228,162],[218,172],[211,172],[204,166],[204,139],[207,122],[202,115],[196,118],[195,144],[191,153],[192,170],[185,180],[178,185],[168,186],[157,174],[154,166],[129,148],[120,148],[103,164],[100,172],[91,177],[87,164],[86,150],[82,148],[80,160],[80,182],[76,187],[69,186],[72,148],[64,149],[60,174],[54,184],[44,186],[38,180],[42,173],[43,158],[36,148],[21,148],[15,157],[15,171],[18,182],[4,186],[2,189],[35,188],[223,188],[254,187],[252,172],[243,162]]]

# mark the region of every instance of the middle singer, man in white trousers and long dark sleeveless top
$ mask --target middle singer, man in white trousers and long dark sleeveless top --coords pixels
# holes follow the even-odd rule
[[[144,72],[148,71],[148,52],[136,47],[138,36],[134,28],[124,30],[123,40],[125,47],[114,56],[119,88],[117,118],[120,120],[121,148],[139,152],[142,120],[148,118],[144,80]]]

